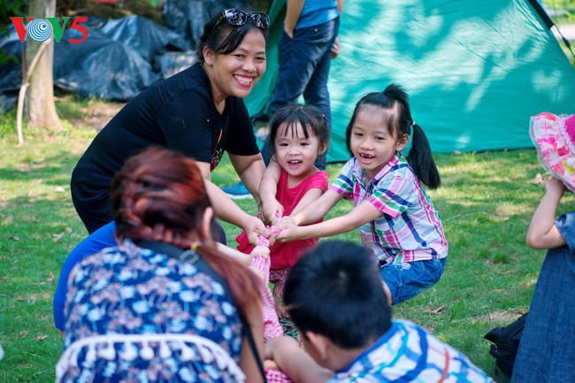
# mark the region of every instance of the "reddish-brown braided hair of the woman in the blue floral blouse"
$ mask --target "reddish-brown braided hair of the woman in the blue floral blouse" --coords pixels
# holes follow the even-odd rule
[[[163,241],[180,249],[200,241],[196,253],[226,280],[245,318],[254,318],[246,308],[260,300],[257,276],[221,254],[203,233],[203,214],[211,203],[193,159],[160,147],[129,157],[112,180],[111,204],[119,238]]]

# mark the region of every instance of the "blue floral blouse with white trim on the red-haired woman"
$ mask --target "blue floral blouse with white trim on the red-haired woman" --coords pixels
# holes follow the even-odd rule
[[[224,287],[193,263],[129,240],[78,264],[65,318],[65,354],[57,380],[238,380],[234,371],[222,369],[221,359],[205,353],[217,349],[231,356],[232,364],[239,361],[242,322]]]

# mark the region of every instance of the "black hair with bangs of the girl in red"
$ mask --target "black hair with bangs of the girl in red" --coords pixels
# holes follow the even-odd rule
[[[318,137],[319,148],[326,148],[329,143],[329,123],[326,116],[314,105],[288,103],[273,113],[270,120],[270,144],[275,152],[274,142],[278,134],[297,136],[297,124],[303,129],[305,138],[311,135]],[[287,129],[280,132],[280,126],[286,124]]]

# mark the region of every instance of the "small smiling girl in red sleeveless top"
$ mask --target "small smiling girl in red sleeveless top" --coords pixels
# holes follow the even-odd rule
[[[326,152],[329,127],[326,118],[313,105],[288,104],[276,111],[270,122],[270,142],[274,154],[259,187],[264,222],[275,224],[318,199],[327,190],[327,172],[313,165]],[[319,222],[319,221],[318,221]],[[249,253],[251,245],[243,232],[237,249]],[[275,242],[270,248],[270,282],[274,300],[281,303],[288,272],[303,252],[318,243],[318,238]],[[280,312],[283,310],[280,309]]]

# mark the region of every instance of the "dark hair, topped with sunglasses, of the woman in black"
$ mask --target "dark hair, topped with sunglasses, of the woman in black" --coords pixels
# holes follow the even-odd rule
[[[251,11],[251,10],[245,10]],[[251,19],[242,26],[233,26],[227,22],[227,19],[221,19],[222,12],[218,12],[203,26],[203,34],[196,44],[196,57],[200,63],[203,63],[203,47],[208,47],[216,54],[226,55],[233,52],[242,43],[246,34],[252,29],[260,31],[265,38],[267,45],[268,32],[266,29],[256,27]]]

